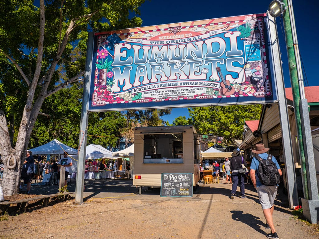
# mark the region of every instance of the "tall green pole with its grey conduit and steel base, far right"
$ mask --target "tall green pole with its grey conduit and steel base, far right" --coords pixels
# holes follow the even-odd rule
[[[304,199],[302,199],[303,214],[311,223],[319,221],[319,197],[315,172],[315,159],[310,130],[308,103],[300,64],[299,46],[291,0],[284,0],[287,6],[284,14],[284,26],[289,60],[289,73],[293,93],[293,105],[297,124],[297,134],[300,149],[300,163]]]

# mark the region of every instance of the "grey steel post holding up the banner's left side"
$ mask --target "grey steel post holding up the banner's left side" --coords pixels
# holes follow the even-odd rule
[[[92,54],[93,54],[93,39],[94,33],[89,33],[87,41],[87,52],[85,62],[84,87],[82,97],[82,112],[80,122],[79,150],[78,150],[78,168],[77,179],[75,185],[75,202],[83,202],[83,186],[84,186],[84,168],[86,154],[86,135],[88,123],[88,106],[89,106],[89,91],[90,91],[90,75],[92,70]]]

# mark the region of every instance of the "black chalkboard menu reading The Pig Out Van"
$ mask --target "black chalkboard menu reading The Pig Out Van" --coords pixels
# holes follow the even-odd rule
[[[160,185],[161,197],[192,197],[193,174],[162,173]]]

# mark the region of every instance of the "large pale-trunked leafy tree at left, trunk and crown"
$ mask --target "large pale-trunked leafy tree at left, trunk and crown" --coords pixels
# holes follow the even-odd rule
[[[144,0],[40,0],[39,6],[34,6],[33,0],[0,2],[0,71],[5,72],[0,76],[4,195],[18,192],[21,159],[45,98],[83,75],[87,30],[140,26],[141,19],[129,18],[129,14],[139,14],[142,3]],[[75,58],[74,52],[81,57]],[[7,84],[15,89],[8,89]]]

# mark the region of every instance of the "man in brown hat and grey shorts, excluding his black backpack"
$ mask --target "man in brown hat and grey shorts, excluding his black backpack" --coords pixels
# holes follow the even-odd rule
[[[259,155],[263,160],[267,160],[269,148],[265,148],[263,144],[256,144],[256,149],[251,150],[251,152]],[[277,166],[278,172],[280,176],[282,175],[282,171],[279,167],[279,164],[274,156],[272,156],[271,161],[274,162]],[[261,207],[263,209],[263,215],[266,219],[266,229],[271,229],[271,232],[266,234],[267,238],[277,239],[279,238],[274,226],[274,222],[272,219],[272,214],[274,212],[274,201],[277,195],[278,185],[268,186],[263,185],[258,178],[258,166],[259,160],[256,157],[253,157],[250,164],[250,178],[257,190],[259,201]]]

